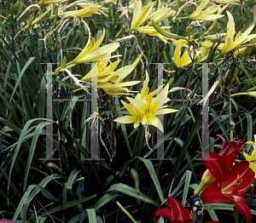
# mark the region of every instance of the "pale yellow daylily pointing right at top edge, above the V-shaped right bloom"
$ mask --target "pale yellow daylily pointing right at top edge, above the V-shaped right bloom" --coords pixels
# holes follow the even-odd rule
[[[202,9],[207,6],[207,3],[209,3],[209,0],[202,0],[201,4],[199,5],[199,7],[197,7],[195,12],[189,14],[187,18],[193,20],[217,20],[218,18],[224,16],[224,14],[213,14],[218,11],[218,5],[212,5],[206,10],[202,11]]]

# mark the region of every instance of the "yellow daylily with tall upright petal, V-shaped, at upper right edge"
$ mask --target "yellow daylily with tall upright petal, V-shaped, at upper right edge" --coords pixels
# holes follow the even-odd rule
[[[229,11],[227,11],[228,17],[229,17],[229,22],[227,24],[227,36],[225,37],[225,43],[224,43],[224,48],[220,52],[220,54],[227,54],[231,50],[236,49],[239,47],[242,43],[245,43],[248,40],[251,40],[252,38],[256,37],[256,34],[249,35],[250,32],[253,30],[253,26],[250,26],[247,28],[246,31],[244,31],[240,37],[236,37],[234,41],[234,36],[235,36],[235,22],[232,14],[230,14]]]

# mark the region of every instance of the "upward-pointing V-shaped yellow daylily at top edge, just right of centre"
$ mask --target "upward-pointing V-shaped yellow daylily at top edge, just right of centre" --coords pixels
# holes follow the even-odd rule
[[[148,5],[143,9],[143,3],[141,0],[134,0],[134,12],[131,20],[131,29],[141,26],[143,22],[148,20],[148,15],[153,8],[153,3],[148,3]]]

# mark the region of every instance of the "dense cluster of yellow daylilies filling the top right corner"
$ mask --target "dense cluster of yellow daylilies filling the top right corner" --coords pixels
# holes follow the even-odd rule
[[[205,34],[208,34],[209,31],[212,30],[213,26],[215,26],[216,21],[224,17],[224,14],[221,14],[224,12],[225,9],[230,5],[230,3],[239,3],[239,0],[235,1],[215,1],[216,3],[226,4],[223,8],[221,8],[220,4],[212,3],[209,7],[207,5],[209,4],[209,0],[202,0],[201,4],[195,9],[195,12],[192,14],[189,14],[189,16],[178,18],[181,19],[191,19],[195,20],[192,21],[189,27],[187,28],[188,36],[187,37],[180,37],[177,36],[174,33],[166,31],[166,29],[171,29],[172,26],[158,26],[157,23],[159,23],[162,20],[165,20],[167,18],[172,18],[172,20],[177,20],[178,14],[180,12],[189,7],[192,4],[195,4],[193,1],[189,1],[188,3],[184,3],[183,6],[181,6],[177,11],[172,10],[171,4],[164,4],[159,3],[158,9],[153,8],[154,3],[149,2],[143,9],[142,9],[142,2],[141,0],[134,0],[133,5],[131,6],[131,9],[134,9],[133,17],[131,21],[131,29],[129,31],[139,31],[143,33],[147,33],[149,36],[156,36],[159,37],[160,40],[164,41],[165,43],[168,43],[168,41],[172,41],[173,44],[176,46],[174,58],[172,60],[174,61],[175,66],[182,67],[182,66],[188,66],[189,63],[192,62],[190,58],[194,58],[196,62],[203,62],[204,60],[207,60],[207,54],[208,49],[211,47],[214,47],[212,40],[216,39],[216,35],[205,35],[203,38],[206,39],[203,41],[203,38],[197,39],[194,38],[195,34],[190,35],[190,29],[192,26],[201,26],[201,23],[207,20],[213,20],[213,25],[209,27],[208,31],[205,32]],[[175,2],[174,2],[175,3]],[[207,7],[207,9],[205,9]],[[203,10],[205,9],[205,10]],[[153,13],[151,13],[154,11]],[[151,14],[150,14],[151,13]],[[215,14],[217,13],[217,14]],[[223,37],[224,43],[218,44],[218,50],[220,50],[220,55],[227,54],[230,51],[234,51],[234,54],[236,56],[243,56],[244,54],[247,54],[252,47],[254,47],[254,44],[249,44],[245,47],[242,47],[241,44],[245,43],[247,41],[252,40],[256,37],[256,34],[249,35],[250,32],[253,30],[253,26],[250,26],[247,28],[246,31],[243,33],[239,32],[236,36],[235,31],[235,22],[232,14],[230,14],[229,11],[227,11],[227,15],[229,18],[229,22],[227,24],[227,32],[219,34],[219,37]],[[148,19],[151,19],[151,21],[148,23],[147,26],[141,26],[145,23]],[[188,43],[197,44],[197,50],[195,54],[191,54],[189,56],[188,51],[191,51],[191,48],[188,47]],[[182,47],[187,47],[188,50],[185,50],[183,53],[183,56],[181,57],[181,49]]]

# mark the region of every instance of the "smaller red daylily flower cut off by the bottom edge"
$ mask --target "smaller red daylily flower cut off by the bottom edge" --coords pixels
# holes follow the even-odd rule
[[[184,208],[181,203],[179,203],[173,197],[167,197],[167,205],[171,209],[158,209],[154,214],[154,222],[157,221],[157,217],[166,216],[170,222],[173,223],[191,223],[192,217],[188,209]]]

